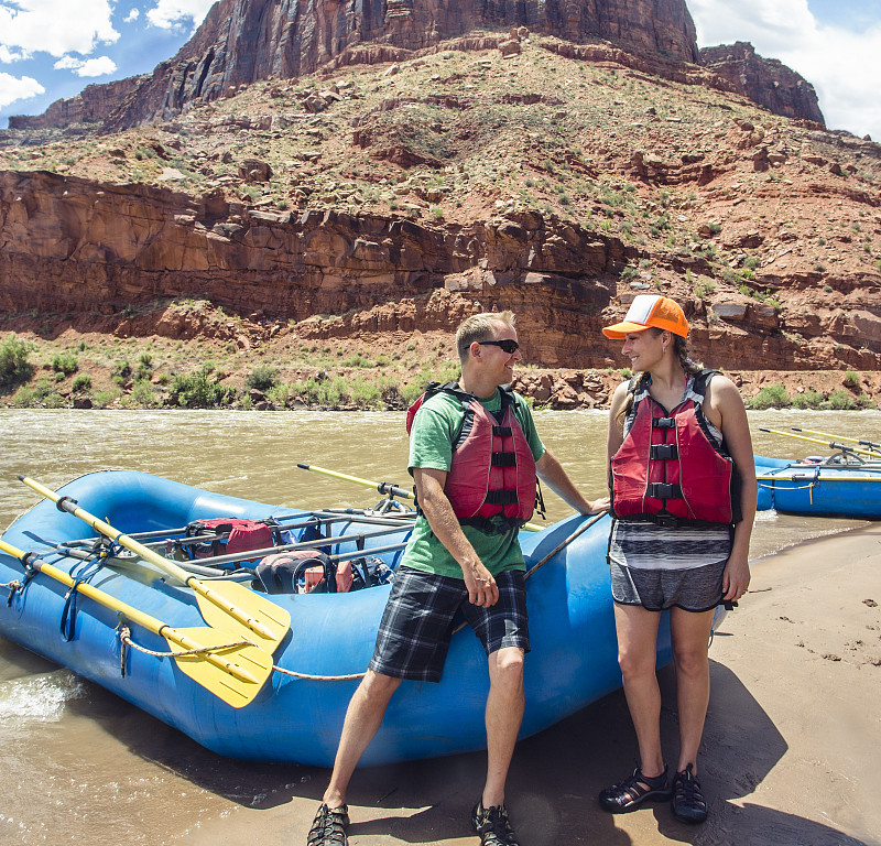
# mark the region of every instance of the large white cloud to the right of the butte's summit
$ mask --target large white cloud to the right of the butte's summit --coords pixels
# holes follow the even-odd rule
[[[807,0],[688,0],[700,46],[749,41],[814,85],[830,129],[881,140],[881,20],[861,32],[817,21]]]

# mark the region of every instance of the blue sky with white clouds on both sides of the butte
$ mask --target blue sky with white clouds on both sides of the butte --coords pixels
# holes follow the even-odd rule
[[[881,0],[687,0],[698,44],[750,41],[813,83],[830,129],[881,141]],[[91,83],[148,73],[211,0],[0,0],[0,128]]]

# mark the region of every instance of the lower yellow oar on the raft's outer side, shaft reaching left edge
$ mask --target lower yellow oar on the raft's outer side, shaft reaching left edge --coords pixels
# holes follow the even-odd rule
[[[0,540],[0,550],[17,557],[26,570],[43,573],[98,605],[119,612],[127,621],[130,620],[165,638],[172,652],[198,650],[191,654],[175,654],[175,663],[193,681],[233,708],[241,708],[251,702],[272,672],[272,655],[253,643],[236,643],[237,634],[207,627],[173,629],[100,588],[85,582],[74,582],[63,570],[40,561],[33,552],[19,550],[3,540]],[[230,655],[235,660],[225,655]]]

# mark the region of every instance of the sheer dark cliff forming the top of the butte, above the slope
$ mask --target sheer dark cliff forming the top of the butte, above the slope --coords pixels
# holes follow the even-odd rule
[[[152,75],[111,84],[120,89],[108,89],[90,119],[105,120],[107,130],[124,129],[258,79],[312,73],[358,44],[423,50],[474,30],[521,25],[575,42],[610,39],[639,53],[698,61],[685,0],[221,0],[174,58]],[[67,126],[79,119],[75,100],[59,100],[36,119],[13,120],[17,127],[29,120]]]

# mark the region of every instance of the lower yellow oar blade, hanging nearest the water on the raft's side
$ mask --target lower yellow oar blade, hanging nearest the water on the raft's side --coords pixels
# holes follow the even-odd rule
[[[173,652],[211,648],[210,652],[175,655],[174,660],[194,682],[233,708],[248,705],[260,693],[272,673],[272,655],[269,652],[252,646],[230,647],[230,643],[243,638],[229,631],[205,627],[191,629],[166,627],[162,634]]]

